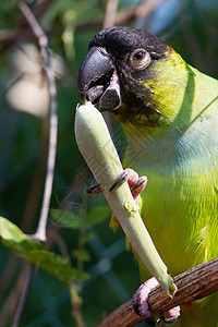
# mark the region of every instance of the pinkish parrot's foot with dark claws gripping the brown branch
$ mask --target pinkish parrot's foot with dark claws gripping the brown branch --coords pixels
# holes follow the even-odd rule
[[[180,315],[180,306],[175,306],[168,311],[169,318],[166,318],[162,313],[155,322],[149,318],[150,311],[148,308],[148,295],[158,284],[157,279],[153,277],[145,281],[133,295],[133,307],[135,313],[142,316],[149,326],[157,326],[161,320],[166,324],[174,323]]]

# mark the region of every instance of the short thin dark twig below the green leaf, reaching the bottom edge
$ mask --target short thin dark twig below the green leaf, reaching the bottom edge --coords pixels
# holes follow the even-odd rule
[[[22,295],[21,295],[21,299],[20,299],[20,302],[19,302],[19,306],[16,308],[16,314],[14,316],[12,327],[17,327],[19,326],[19,322],[21,319],[21,315],[22,315],[22,312],[23,312],[25,300],[26,300],[26,296],[27,296],[27,293],[28,293],[28,289],[29,289],[32,279],[34,277],[34,271],[35,271],[35,266],[33,264],[28,264],[27,277],[25,279],[25,284],[24,284],[24,288],[22,290]]]

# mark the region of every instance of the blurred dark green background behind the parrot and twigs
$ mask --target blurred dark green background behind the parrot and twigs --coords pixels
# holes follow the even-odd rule
[[[47,245],[70,257],[89,278],[75,281],[86,326],[131,299],[140,286],[133,255],[121,230],[109,227],[111,211],[102,195],[88,197],[95,183],[78,153],[74,114],[80,101],[77,72],[88,41],[104,26],[145,28],[172,46],[198,70],[218,76],[217,0],[29,0],[49,38],[58,88],[58,148]],[[114,4],[112,9],[111,4]],[[137,11],[143,5],[145,12]],[[0,3],[0,215],[34,233],[40,213],[48,144],[48,88],[40,49],[13,0]],[[107,116],[121,156],[125,141]],[[53,213],[71,213],[71,228]],[[77,220],[89,223],[76,223]],[[26,276],[26,263],[0,243],[0,327],[11,326]],[[37,270],[20,326],[76,326],[66,288]]]

